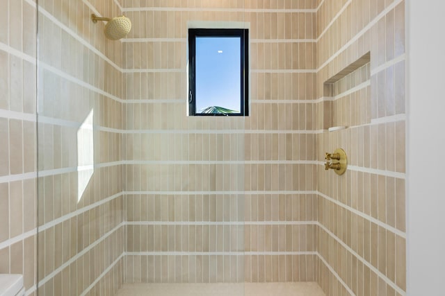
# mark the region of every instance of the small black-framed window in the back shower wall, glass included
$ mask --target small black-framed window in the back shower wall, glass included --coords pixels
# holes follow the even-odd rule
[[[188,30],[188,114],[247,116],[248,30]]]

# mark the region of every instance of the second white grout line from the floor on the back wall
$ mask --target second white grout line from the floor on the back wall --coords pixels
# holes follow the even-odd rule
[[[318,225],[317,221],[126,221],[125,226],[150,226],[150,225],[170,225],[170,226],[243,226],[243,225]]]

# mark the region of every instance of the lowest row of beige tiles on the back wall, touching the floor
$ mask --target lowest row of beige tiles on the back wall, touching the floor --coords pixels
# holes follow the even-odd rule
[[[312,255],[133,255],[127,275],[135,283],[314,281]]]

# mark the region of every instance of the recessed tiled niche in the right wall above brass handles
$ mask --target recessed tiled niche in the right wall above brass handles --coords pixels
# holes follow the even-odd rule
[[[323,129],[371,122],[371,53],[366,53],[323,85]]]

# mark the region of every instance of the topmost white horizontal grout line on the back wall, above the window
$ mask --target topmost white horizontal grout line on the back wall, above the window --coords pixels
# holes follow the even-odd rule
[[[264,12],[264,13],[316,13],[315,9],[272,9],[272,8],[188,8],[188,7],[138,7],[123,8],[122,12],[143,12],[143,11],[188,11],[188,12]]]

